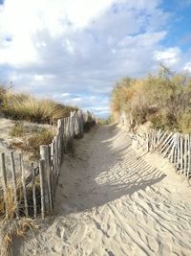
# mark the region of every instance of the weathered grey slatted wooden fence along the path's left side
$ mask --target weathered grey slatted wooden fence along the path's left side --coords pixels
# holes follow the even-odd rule
[[[58,177],[63,162],[63,153],[69,150],[74,137],[83,137],[84,128],[95,125],[96,119],[90,112],[71,112],[70,117],[57,121],[57,133],[50,145],[40,146],[40,160],[31,164],[30,172],[25,170],[23,155],[15,161],[15,153],[10,153],[10,166],[5,153],[1,153],[1,216],[32,217],[53,213],[53,202]],[[17,171],[17,172],[16,172]]]

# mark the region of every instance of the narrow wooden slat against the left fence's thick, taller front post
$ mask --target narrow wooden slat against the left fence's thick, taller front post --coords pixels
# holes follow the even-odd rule
[[[41,197],[41,217],[45,219],[45,160],[40,159],[39,161],[39,175],[40,175],[40,197]]]

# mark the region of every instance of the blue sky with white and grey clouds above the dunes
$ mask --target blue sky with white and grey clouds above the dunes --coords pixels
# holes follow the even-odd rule
[[[117,80],[191,72],[191,0],[0,0],[0,82],[110,113]]]

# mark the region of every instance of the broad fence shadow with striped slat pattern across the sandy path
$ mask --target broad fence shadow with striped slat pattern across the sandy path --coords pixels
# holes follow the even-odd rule
[[[94,145],[84,149],[91,140]],[[56,203],[59,214],[89,210],[125,195],[131,197],[166,176],[138,158],[131,139],[116,125],[100,127],[80,143],[74,165],[63,164]]]

